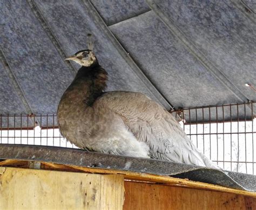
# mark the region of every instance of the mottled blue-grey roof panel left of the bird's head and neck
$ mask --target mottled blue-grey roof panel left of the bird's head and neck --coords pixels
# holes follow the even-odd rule
[[[1,48],[32,111],[56,112],[72,74],[26,1],[4,1],[0,13]],[[15,98],[10,100],[15,104]],[[11,106],[6,108],[11,113],[16,111]]]

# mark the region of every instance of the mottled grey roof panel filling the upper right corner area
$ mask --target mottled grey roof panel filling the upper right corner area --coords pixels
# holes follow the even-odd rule
[[[153,2],[247,99],[256,99],[245,86],[256,81],[256,25],[251,19],[231,1]]]

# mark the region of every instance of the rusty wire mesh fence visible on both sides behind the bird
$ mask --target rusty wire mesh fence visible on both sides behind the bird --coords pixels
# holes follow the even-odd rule
[[[221,168],[256,174],[255,102],[172,112],[187,136]],[[60,134],[56,114],[0,115],[0,144],[77,148]]]

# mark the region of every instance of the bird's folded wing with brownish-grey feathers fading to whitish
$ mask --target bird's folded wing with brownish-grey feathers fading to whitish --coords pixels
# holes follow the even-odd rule
[[[134,136],[150,146],[152,158],[212,167],[212,162],[197,150],[176,119],[144,94],[106,92],[95,105],[107,107],[122,117]]]

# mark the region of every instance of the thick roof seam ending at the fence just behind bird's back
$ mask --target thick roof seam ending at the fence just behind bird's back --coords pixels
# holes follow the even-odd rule
[[[157,88],[152,84],[149,78],[146,77],[144,72],[140,69],[140,67],[134,62],[134,60],[130,57],[129,53],[126,52],[122,44],[118,41],[118,39],[113,35],[112,31],[109,29],[109,27],[106,25],[106,23],[103,21],[103,18],[99,15],[97,9],[91,1],[84,1],[81,0],[83,5],[89,9],[91,16],[94,18],[96,23],[102,28],[104,31],[104,34],[107,38],[111,41],[114,48],[119,52],[119,54],[123,57],[125,62],[129,64],[131,69],[133,70],[133,73],[136,74],[136,76],[145,84],[147,89],[153,94],[154,97],[166,108],[174,110],[173,106],[170,104],[170,102],[163,96],[163,94],[157,90]]]

